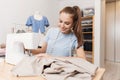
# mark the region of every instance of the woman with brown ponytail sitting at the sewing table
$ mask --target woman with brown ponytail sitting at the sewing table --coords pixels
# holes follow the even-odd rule
[[[76,52],[77,57],[85,59],[82,43],[80,9],[78,6],[68,6],[59,13],[58,28],[50,29],[45,36],[42,48],[32,50],[32,53],[41,53],[38,54],[41,57],[69,57]]]

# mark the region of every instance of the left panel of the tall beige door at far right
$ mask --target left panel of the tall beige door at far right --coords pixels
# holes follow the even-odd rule
[[[115,2],[106,4],[106,57],[107,61],[115,61]]]

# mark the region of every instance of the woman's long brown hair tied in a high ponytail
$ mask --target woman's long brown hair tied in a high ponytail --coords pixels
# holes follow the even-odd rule
[[[65,12],[65,13],[68,13],[68,14],[72,15],[72,19],[73,19],[72,30],[73,30],[75,36],[77,37],[77,41],[78,41],[77,48],[79,48],[80,46],[83,45],[80,8],[78,6],[73,6],[73,7],[68,6],[68,7],[63,8],[60,11],[60,13],[62,13],[62,12]]]

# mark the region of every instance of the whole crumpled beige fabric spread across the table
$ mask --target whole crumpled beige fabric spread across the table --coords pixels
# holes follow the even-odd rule
[[[46,80],[92,80],[97,66],[81,58],[25,57],[11,71],[16,76],[44,75]]]

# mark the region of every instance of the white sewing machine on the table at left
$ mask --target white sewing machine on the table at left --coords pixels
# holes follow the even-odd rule
[[[42,38],[43,35],[39,33],[8,34],[6,41],[6,62],[16,65],[26,56],[24,49],[37,49]]]

